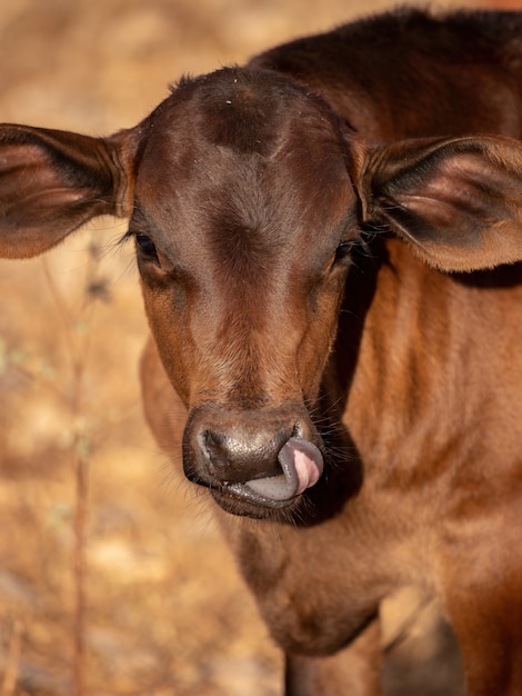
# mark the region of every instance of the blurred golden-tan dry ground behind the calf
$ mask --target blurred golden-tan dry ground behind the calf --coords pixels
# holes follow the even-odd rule
[[[110,133],[182,73],[387,7],[2,0],[0,120]],[[211,508],[142,419],[124,231],[102,220],[44,260],[0,264],[0,696],[277,696],[281,656]],[[460,693],[451,636],[431,604],[419,616],[389,653],[388,693]]]

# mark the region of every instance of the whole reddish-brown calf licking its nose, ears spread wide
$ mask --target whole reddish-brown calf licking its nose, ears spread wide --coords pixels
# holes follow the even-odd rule
[[[109,138],[0,129],[2,256],[130,218],[145,411],[289,695],[378,694],[379,605],[412,583],[469,693],[522,693],[521,36],[401,11],[184,79]]]

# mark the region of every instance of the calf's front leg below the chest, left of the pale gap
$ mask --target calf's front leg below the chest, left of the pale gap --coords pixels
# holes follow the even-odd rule
[[[287,656],[285,696],[379,696],[379,620],[347,648],[330,657]]]

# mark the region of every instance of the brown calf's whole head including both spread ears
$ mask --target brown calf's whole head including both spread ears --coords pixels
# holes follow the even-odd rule
[[[522,258],[522,147],[368,147],[269,71],[184,80],[110,138],[0,129],[0,253],[130,218],[151,330],[189,418],[187,476],[225,509],[299,508],[328,453],[313,421],[352,248],[392,230],[443,270]]]

